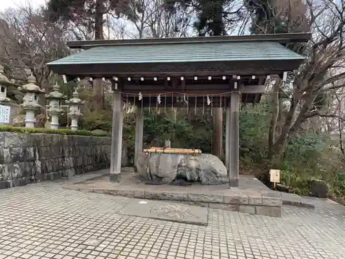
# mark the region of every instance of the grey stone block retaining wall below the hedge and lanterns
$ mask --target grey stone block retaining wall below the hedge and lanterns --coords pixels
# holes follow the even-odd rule
[[[0,189],[106,169],[110,137],[0,132]]]

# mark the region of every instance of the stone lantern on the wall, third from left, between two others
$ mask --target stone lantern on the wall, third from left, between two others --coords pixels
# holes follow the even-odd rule
[[[52,117],[52,122],[50,123],[50,128],[58,129],[59,128],[59,116],[63,112],[61,108],[61,101],[66,97],[60,92],[60,86],[56,83],[52,86],[52,92],[49,95],[46,95],[46,98],[49,100],[49,110],[48,113]]]

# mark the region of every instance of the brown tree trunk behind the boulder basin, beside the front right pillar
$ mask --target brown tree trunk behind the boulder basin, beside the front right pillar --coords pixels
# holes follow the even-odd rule
[[[217,155],[220,159],[223,154],[223,109],[213,108],[213,128],[215,134],[213,135],[213,155]]]

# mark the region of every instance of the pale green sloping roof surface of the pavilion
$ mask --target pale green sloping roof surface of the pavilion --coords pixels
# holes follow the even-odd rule
[[[223,41],[206,43],[135,44],[96,46],[48,63],[144,64],[202,61],[301,60],[301,55],[270,41]]]

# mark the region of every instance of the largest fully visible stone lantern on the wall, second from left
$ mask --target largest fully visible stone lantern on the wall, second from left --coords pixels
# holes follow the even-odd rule
[[[36,122],[34,113],[41,108],[38,100],[39,94],[44,93],[44,90],[41,90],[41,88],[36,85],[36,78],[33,75],[28,77],[28,84],[19,86],[18,90],[24,93],[21,108],[26,111],[25,126],[27,128],[34,128],[34,123]]]

